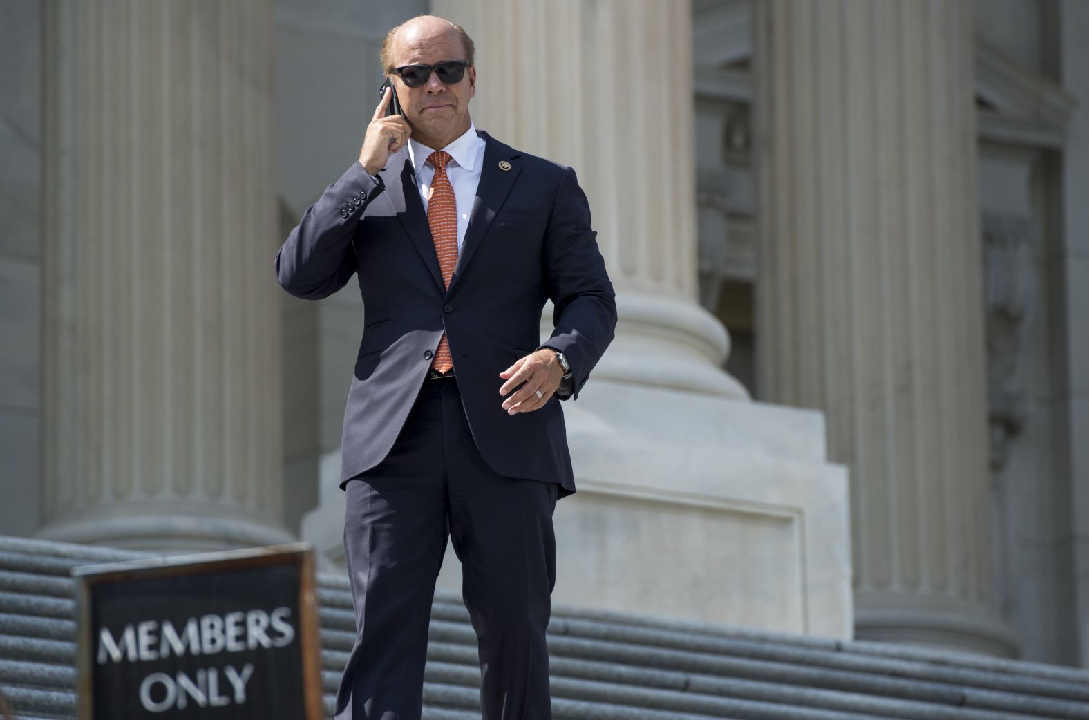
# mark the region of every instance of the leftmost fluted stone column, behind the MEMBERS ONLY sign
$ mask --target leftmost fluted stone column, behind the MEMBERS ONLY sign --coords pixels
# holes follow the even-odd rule
[[[273,3],[44,3],[44,537],[282,528]]]

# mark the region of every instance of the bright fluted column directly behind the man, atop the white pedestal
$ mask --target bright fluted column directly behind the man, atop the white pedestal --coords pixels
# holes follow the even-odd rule
[[[476,42],[476,125],[578,173],[620,313],[595,377],[747,398],[696,301],[689,3],[431,4]]]

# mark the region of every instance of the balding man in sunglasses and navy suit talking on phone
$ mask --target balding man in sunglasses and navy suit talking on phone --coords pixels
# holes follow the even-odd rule
[[[344,415],[356,640],[340,720],[420,717],[448,537],[479,643],[485,720],[551,718],[552,512],[574,492],[563,412],[613,338],[612,284],[570,168],[474,127],[473,41],[424,15],[390,30],[359,158],[277,256],[320,298],[357,276],[366,313]],[[540,344],[547,300],[555,330]]]

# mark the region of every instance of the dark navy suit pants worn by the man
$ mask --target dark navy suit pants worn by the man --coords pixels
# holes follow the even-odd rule
[[[477,635],[481,717],[551,720],[544,630],[559,485],[495,474],[477,451],[456,379],[442,378],[425,380],[390,454],[344,489],[356,638],[337,720],[419,720],[448,537]]]

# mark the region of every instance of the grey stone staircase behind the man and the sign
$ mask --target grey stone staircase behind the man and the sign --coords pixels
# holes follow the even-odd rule
[[[73,583],[140,553],[0,537],[0,693],[21,720],[75,717]],[[326,708],[354,636],[347,583],[319,576]],[[1089,720],[1089,673],[1031,662],[556,608],[556,720]],[[460,598],[431,619],[425,720],[479,719]]]

